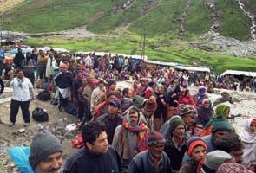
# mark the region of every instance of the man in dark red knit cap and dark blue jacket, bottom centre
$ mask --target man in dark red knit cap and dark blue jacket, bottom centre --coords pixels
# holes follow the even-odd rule
[[[150,132],[148,137],[148,151],[143,151],[134,157],[133,161],[128,165],[127,173],[172,173],[170,159],[163,151],[165,142],[166,140],[160,132]]]

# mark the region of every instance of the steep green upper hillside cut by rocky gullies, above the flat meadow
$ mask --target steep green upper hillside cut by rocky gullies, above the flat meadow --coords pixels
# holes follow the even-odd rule
[[[3,29],[40,33],[73,29],[83,25],[95,33],[111,33],[125,27],[141,35],[161,36],[161,39],[176,39],[181,13],[187,0],[134,0],[121,9],[125,0],[25,0],[13,10],[3,14]],[[247,0],[255,10],[256,0]],[[245,40],[250,23],[241,13],[235,0],[218,0],[221,17],[220,34]],[[253,9],[254,8],[254,9]],[[255,12],[256,13],[256,12]],[[187,11],[185,29],[187,39],[204,34],[211,26],[211,16],[201,0]],[[145,29],[145,30],[144,30]]]

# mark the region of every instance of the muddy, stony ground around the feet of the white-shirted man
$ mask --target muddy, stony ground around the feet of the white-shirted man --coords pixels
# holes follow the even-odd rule
[[[36,91],[38,92],[38,90]],[[62,142],[63,157],[67,159],[70,154],[74,153],[77,149],[70,146],[71,141],[75,139],[75,136],[79,131],[66,131],[66,125],[75,123],[76,118],[69,115],[67,112],[59,112],[56,106],[53,106],[49,101],[33,100],[30,103],[30,125],[23,127],[22,112],[19,110],[17,115],[16,125],[9,127],[10,123],[10,88],[7,88],[2,98],[0,99],[0,118],[7,125],[0,124],[0,173],[15,173],[19,172],[16,165],[10,159],[7,153],[7,149],[13,146],[29,146],[31,138],[37,130],[38,122],[31,118],[31,112],[38,106],[46,109],[49,113],[49,121],[41,123],[45,129],[51,131]],[[67,118],[67,120],[64,120]],[[24,129],[23,133],[18,132]]]

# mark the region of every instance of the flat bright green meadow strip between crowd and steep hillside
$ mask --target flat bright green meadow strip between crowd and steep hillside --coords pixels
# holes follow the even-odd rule
[[[132,42],[130,38],[133,38]],[[73,52],[97,51],[116,54],[141,54],[141,40],[136,40],[136,36],[134,35],[101,37],[86,40],[56,36],[43,37],[40,39],[33,38],[26,40],[25,43],[38,47],[50,46],[55,48],[67,48]],[[182,64],[192,64],[194,61],[198,65],[213,67],[213,71],[217,73],[221,73],[226,69],[256,71],[255,59],[207,52],[199,48],[191,47],[186,43],[180,45],[176,43],[165,43],[157,46],[152,40],[147,40],[146,54],[149,60],[154,61],[172,61]]]

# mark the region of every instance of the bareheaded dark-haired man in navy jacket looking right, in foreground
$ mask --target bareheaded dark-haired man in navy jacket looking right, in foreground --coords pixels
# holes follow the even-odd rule
[[[108,145],[106,127],[98,121],[90,121],[82,127],[84,147],[69,157],[63,173],[122,172],[118,153]]]

